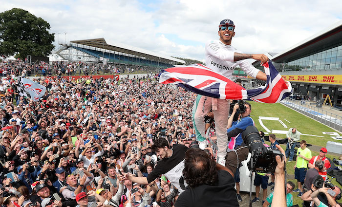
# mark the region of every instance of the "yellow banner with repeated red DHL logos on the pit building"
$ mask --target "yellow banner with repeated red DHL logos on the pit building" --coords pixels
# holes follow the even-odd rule
[[[342,75],[281,75],[285,80],[342,85]]]

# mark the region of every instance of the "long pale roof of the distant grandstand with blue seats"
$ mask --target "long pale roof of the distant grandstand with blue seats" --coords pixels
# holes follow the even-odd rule
[[[90,47],[97,47],[100,49],[106,49],[106,50],[111,50],[111,51],[116,51],[120,53],[126,53],[134,56],[143,56],[151,60],[155,61],[162,61],[162,62],[170,62],[174,61],[177,63],[183,63],[185,64],[184,60],[177,59],[174,57],[169,57],[169,56],[163,56],[163,55],[158,55],[157,53],[141,49],[138,47],[126,45],[123,43],[114,43],[114,44],[107,44],[105,38],[96,38],[96,39],[83,39],[83,40],[73,40],[70,41],[72,43],[76,44],[82,44],[82,45],[87,45]]]

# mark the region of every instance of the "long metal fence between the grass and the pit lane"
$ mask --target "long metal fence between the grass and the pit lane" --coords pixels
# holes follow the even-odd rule
[[[295,100],[289,97],[283,99],[280,103],[342,132],[342,116],[317,108],[316,103],[313,103],[315,105],[307,105],[305,101]]]

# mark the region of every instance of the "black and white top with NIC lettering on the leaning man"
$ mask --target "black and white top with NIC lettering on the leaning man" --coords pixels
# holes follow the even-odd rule
[[[188,149],[184,145],[173,145],[172,156],[163,158],[157,163],[153,171],[147,176],[148,182],[150,183],[159,177],[159,175],[164,174],[171,181],[171,184],[182,193],[187,186],[183,178],[183,169],[185,152]]]

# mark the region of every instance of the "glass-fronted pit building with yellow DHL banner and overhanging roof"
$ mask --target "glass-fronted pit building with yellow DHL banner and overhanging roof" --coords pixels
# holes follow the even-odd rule
[[[329,95],[342,110],[342,20],[270,59],[294,93],[313,101]]]

